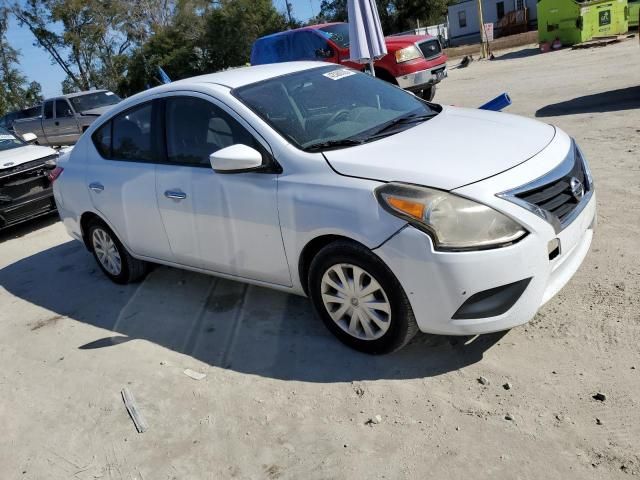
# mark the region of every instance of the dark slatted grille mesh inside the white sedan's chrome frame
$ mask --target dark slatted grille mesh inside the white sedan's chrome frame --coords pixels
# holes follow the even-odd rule
[[[575,195],[572,191],[571,181],[573,179],[577,179],[583,186],[583,195]],[[587,192],[587,188],[582,162],[576,161],[569,173],[562,178],[516,196],[527,203],[540,207],[545,212],[549,212],[560,220],[560,223],[563,223],[578,206],[584,193]]]

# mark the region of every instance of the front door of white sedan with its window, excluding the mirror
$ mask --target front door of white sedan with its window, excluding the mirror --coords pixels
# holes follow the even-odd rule
[[[167,164],[156,190],[171,250],[179,263],[290,285],[274,173],[218,174],[209,155],[245,144],[268,147],[235,114],[206,95],[165,100]]]

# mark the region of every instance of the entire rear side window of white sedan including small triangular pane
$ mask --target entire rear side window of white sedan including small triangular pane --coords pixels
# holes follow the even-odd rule
[[[104,158],[130,162],[154,160],[153,103],[145,103],[117,115],[92,135]]]

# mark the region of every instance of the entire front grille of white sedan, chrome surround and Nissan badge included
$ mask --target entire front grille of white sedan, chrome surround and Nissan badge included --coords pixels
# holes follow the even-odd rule
[[[560,232],[582,211],[592,190],[588,166],[573,144],[564,161],[551,172],[498,196],[544,218]]]

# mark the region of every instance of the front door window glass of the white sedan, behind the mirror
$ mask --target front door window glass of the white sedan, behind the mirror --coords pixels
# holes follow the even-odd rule
[[[169,163],[209,167],[209,155],[239,143],[263,151],[240,123],[211,102],[173,97],[165,111]]]

